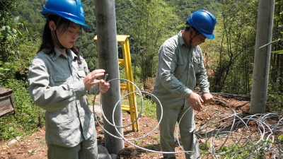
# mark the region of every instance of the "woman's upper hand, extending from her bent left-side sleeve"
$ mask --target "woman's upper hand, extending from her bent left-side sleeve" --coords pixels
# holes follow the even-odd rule
[[[88,75],[86,75],[86,77],[83,78],[83,84],[86,87],[86,90],[89,90],[93,85],[100,83],[101,80],[96,80],[96,78],[103,76],[104,72],[105,72],[104,69],[96,69],[91,73],[88,73]]]

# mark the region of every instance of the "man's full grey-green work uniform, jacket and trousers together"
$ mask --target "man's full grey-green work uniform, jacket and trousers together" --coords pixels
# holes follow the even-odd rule
[[[182,31],[182,30],[181,30]],[[186,158],[200,158],[200,149],[194,134],[195,121],[194,112],[187,98],[196,83],[200,86],[202,93],[209,93],[209,82],[207,71],[202,61],[200,47],[187,47],[182,34],[178,33],[161,45],[158,52],[158,67],[153,94],[160,100],[163,107],[163,118],[161,119],[161,148],[162,151],[175,151],[174,129],[176,121],[180,120],[180,136],[185,151],[194,151],[194,155]],[[155,98],[151,98],[156,103]],[[158,121],[161,117],[161,109],[156,107]],[[175,158],[175,154],[163,154],[164,158]]]

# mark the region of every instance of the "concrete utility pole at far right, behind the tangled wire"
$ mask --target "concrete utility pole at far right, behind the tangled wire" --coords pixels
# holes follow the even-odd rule
[[[274,10],[275,0],[259,1],[250,114],[263,114],[266,110],[271,45],[262,46],[272,40]]]

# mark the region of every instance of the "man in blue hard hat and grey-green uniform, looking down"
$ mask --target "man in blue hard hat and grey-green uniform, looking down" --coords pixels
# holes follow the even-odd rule
[[[153,95],[160,100],[163,109],[161,119],[161,107],[156,105],[157,119],[161,119],[159,126],[163,152],[175,151],[175,124],[180,122],[180,137],[184,150],[194,152],[192,155],[186,153],[186,158],[200,158],[200,148],[194,134],[194,110],[202,111],[202,103],[212,102],[213,97],[209,93],[207,71],[199,45],[205,42],[206,38],[214,38],[215,25],[216,18],[212,13],[205,10],[195,11],[187,18],[185,29],[166,40],[159,49]],[[192,92],[196,83],[202,90],[201,97]],[[156,98],[151,99],[158,103]],[[175,154],[163,153],[163,158],[175,158]]]

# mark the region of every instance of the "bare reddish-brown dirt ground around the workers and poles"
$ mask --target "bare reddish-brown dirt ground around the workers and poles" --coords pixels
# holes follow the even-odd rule
[[[99,97],[98,97],[99,98]],[[96,99],[99,101],[99,99]],[[226,102],[233,110],[236,112],[242,112],[243,114],[248,114],[250,109],[250,101],[243,100],[243,98],[238,98],[236,100],[234,98],[224,98],[223,96],[214,94],[214,98]],[[209,104],[204,105],[204,109],[212,109],[212,110],[229,110],[222,102],[211,102]],[[209,119],[209,111],[202,112],[197,114],[195,117],[195,123],[197,128],[207,122]],[[211,112],[212,113],[212,112]],[[130,122],[130,116],[127,112],[123,112],[123,124],[127,125]],[[124,129],[124,135],[126,139],[133,139],[140,136],[144,136],[148,134],[150,131],[154,129],[154,127],[158,124],[157,119],[151,119],[142,115],[139,118],[139,131],[132,131],[132,126],[129,126]],[[96,126],[98,132],[98,144],[104,146],[103,141],[103,131],[100,126]],[[180,138],[180,137],[179,137]],[[11,140],[10,140],[11,141]],[[9,141],[0,141],[0,159],[1,158],[47,158],[47,145],[45,143],[45,128],[39,129],[39,131],[35,132],[31,136],[25,136],[16,141],[16,143],[12,143],[11,145],[7,145]],[[159,129],[156,129],[152,134],[146,136],[144,139],[139,139],[137,141],[132,141],[134,144],[141,146],[143,148],[147,148],[154,151],[161,151],[160,141],[159,141]],[[202,143],[202,139],[199,140],[199,143]],[[182,151],[178,146],[178,143],[175,143],[175,151]],[[176,154],[177,158],[185,158],[184,153]],[[151,153],[148,151],[141,150],[132,146],[131,144],[125,141],[125,148],[123,148],[118,154],[117,158],[162,158],[161,153]]]

